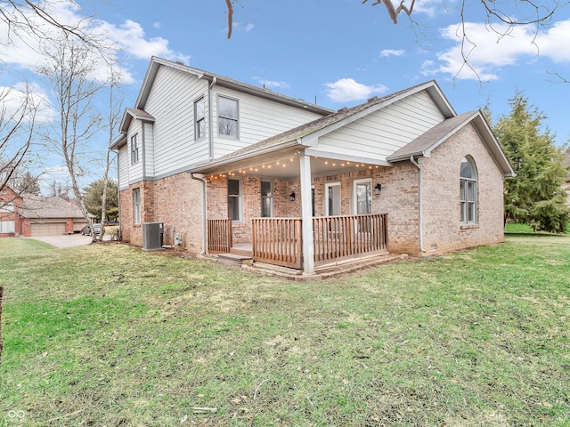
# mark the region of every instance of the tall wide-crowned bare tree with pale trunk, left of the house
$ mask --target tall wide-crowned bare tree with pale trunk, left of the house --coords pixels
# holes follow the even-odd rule
[[[39,68],[38,74],[47,78],[53,89],[54,109],[60,113],[57,125],[45,134],[45,140],[65,159],[73,196],[93,228],[79,179],[85,173],[82,162],[88,157],[87,143],[102,128],[94,101],[107,82],[95,79],[97,60],[93,52],[77,44],[68,33],[63,32],[61,41],[53,42],[44,53],[49,65]],[[92,237],[96,240],[94,230]]]

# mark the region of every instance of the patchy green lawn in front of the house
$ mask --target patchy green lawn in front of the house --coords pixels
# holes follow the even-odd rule
[[[0,278],[0,425],[570,425],[570,237],[314,283],[4,238]]]

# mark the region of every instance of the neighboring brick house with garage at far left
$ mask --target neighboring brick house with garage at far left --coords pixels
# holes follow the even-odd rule
[[[86,223],[79,206],[61,197],[18,195],[7,187],[0,194],[0,237],[73,234]]]

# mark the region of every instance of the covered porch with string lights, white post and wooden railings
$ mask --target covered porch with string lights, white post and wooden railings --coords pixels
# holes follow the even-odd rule
[[[378,212],[381,184],[374,178],[386,166],[363,160],[297,147],[210,164],[200,170],[208,253],[250,256],[306,275],[328,263],[387,254],[387,213]]]

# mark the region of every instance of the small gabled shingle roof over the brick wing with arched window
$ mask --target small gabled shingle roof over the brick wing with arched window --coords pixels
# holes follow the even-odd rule
[[[515,176],[515,171],[501,149],[499,141],[494,137],[493,131],[487,124],[480,110],[470,111],[444,120],[434,126],[428,132],[423,133],[409,144],[398,149],[392,156],[387,157],[390,162],[409,160],[410,157],[429,157],[431,151],[436,149],[442,142],[448,140],[454,133],[460,131],[465,125],[472,124],[476,132],[484,141],[493,159],[501,168],[504,176]]]

